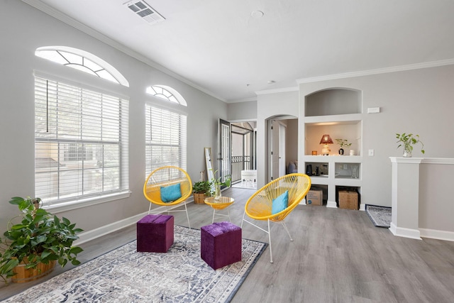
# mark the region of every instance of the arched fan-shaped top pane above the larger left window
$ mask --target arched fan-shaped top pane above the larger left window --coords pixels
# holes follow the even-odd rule
[[[129,87],[128,80],[115,67],[84,50],[67,46],[45,46],[37,48],[35,55]]]

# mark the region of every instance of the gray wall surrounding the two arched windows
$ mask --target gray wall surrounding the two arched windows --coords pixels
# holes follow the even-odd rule
[[[20,16],[20,17],[18,17]],[[17,209],[8,203],[11,197],[34,196],[34,83],[33,70],[65,75],[96,87],[104,79],[35,57],[40,46],[64,45],[101,57],[116,67],[130,83],[118,87],[129,97],[129,185],[131,197],[66,211],[62,216],[90,231],[148,210],[143,197],[145,181],[145,87],[165,84],[176,89],[187,101],[187,171],[193,180],[205,170],[204,147],[216,155],[218,118],[226,119],[227,105],[182,81],[156,70],[115,48],[82,33],[22,1],[0,2],[0,232]],[[81,75],[83,74],[83,75]],[[101,82],[100,82],[101,81]],[[109,84],[107,84],[109,85]],[[104,86],[104,84],[103,84]]]

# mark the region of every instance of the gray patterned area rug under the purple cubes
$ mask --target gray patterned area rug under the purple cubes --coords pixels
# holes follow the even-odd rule
[[[243,239],[242,260],[213,270],[200,231],[175,226],[167,253],[138,253],[133,241],[4,302],[230,302],[266,246]]]

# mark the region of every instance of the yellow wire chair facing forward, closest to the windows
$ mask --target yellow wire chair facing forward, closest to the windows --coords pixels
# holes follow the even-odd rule
[[[170,185],[180,184],[180,190],[182,197],[172,202],[162,202],[161,199],[161,187],[167,187]],[[143,185],[143,194],[145,198],[150,201],[150,207],[148,208],[148,214],[160,214],[163,211],[155,210],[151,211],[151,205],[156,204],[158,206],[165,206],[167,214],[172,211],[186,211],[187,225],[191,228],[189,223],[189,215],[187,213],[186,199],[192,194],[192,181],[187,172],[176,166],[164,166],[153,170],[148,175],[145,184]],[[184,204],[184,209],[175,209]]]

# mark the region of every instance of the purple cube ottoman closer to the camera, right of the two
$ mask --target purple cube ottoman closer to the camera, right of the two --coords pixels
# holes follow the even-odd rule
[[[241,228],[227,221],[202,226],[200,256],[214,270],[240,261]]]

